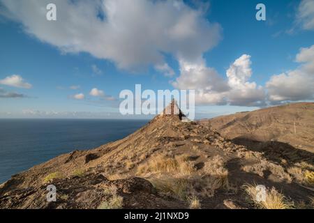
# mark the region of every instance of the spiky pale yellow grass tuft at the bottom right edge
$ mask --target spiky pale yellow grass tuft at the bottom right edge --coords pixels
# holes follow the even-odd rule
[[[292,209],[294,208],[294,203],[288,200],[283,194],[278,192],[274,187],[271,190],[266,190],[266,199],[264,201],[257,201],[256,190],[257,185],[244,185],[244,190],[250,197],[251,203],[256,208],[260,209]]]

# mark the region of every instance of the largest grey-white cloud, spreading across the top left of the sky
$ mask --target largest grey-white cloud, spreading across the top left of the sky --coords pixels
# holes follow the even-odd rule
[[[56,22],[45,20],[50,0],[0,1],[6,16],[39,40],[65,53],[88,52],[114,61],[122,69],[169,71],[164,54],[193,62],[220,40],[220,25],[184,1],[56,0]]]

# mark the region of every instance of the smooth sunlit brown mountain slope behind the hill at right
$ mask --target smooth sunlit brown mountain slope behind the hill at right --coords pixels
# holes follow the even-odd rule
[[[314,153],[314,103],[269,107],[201,122],[227,139],[281,141]]]

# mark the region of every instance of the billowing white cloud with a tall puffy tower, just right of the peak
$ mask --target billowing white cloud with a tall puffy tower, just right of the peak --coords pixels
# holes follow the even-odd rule
[[[227,80],[204,61],[189,64],[181,61],[181,75],[172,83],[177,89],[195,89],[196,102],[215,105],[264,105],[264,89],[248,82],[252,75],[251,56],[242,55],[227,70]]]

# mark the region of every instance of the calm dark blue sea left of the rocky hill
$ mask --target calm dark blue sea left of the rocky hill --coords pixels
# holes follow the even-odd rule
[[[74,150],[122,139],[147,120],[0,119],[0,183]]]

